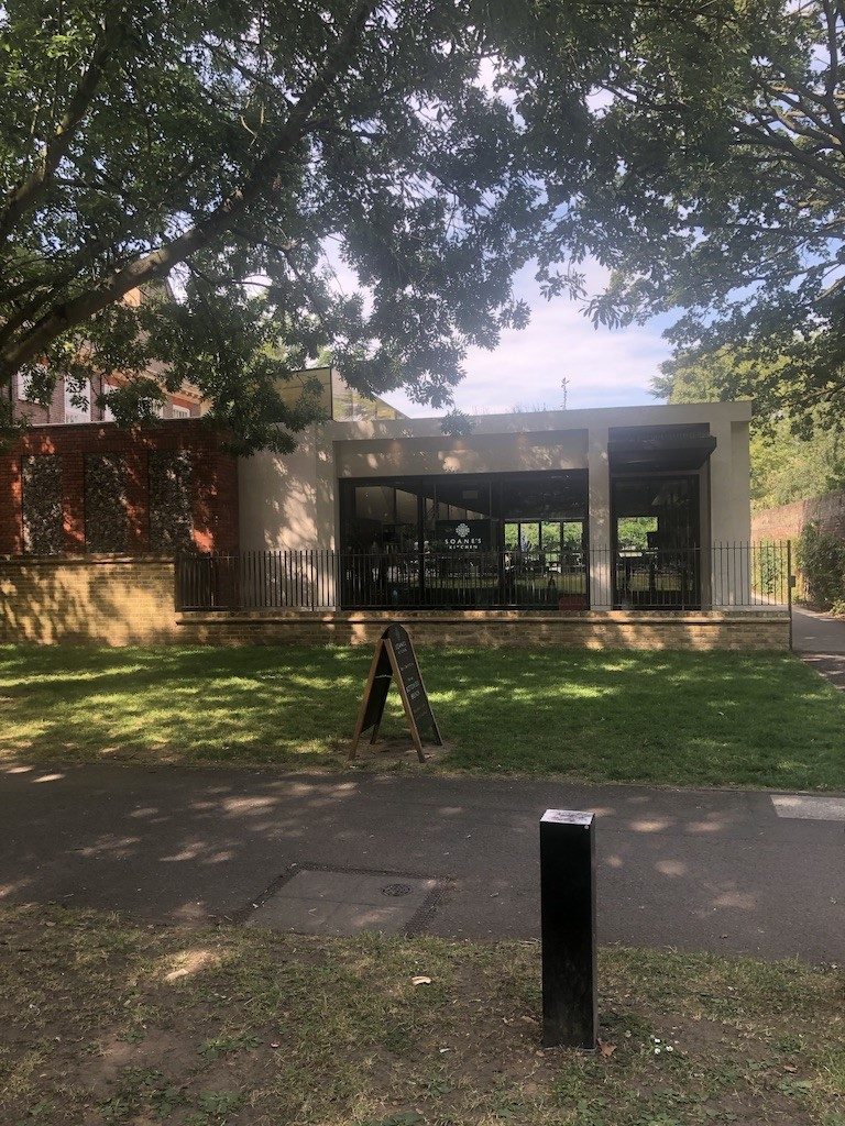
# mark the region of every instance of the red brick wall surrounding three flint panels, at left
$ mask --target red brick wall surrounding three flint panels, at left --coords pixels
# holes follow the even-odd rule
[[[20,461],[59,454],[62,458],[62,507],[65,551],[83,552],[84,455],[121,454],[128,465],[130,538],[133,552],[149,551],[150,450],[188,450],[193,459],[194,542],[202,551],[238,548],[238,463],[223,453],[220,435],[198,419],[168,421],[143,430],[114,422],[33,427],[9,453],[0,455],[0,554],[24,551]]]

